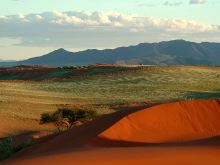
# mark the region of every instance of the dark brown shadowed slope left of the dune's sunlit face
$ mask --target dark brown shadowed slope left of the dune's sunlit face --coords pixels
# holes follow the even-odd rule
[[[17,153],[12,159],[22,159],[24,157],[44,155],[48,153],[66,152],[88,146],[90,145],[91,139],[94,139],[97,135],[111,127],[121,118],[148,106],[149,105],[130,107],[127,108],[127,110],[104,115],[96,120],[85,123],[61,134],[49,135],[39,139],[31,147]]]

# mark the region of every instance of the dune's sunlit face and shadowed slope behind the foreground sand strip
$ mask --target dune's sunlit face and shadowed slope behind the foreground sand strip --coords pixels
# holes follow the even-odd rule
[[[38,140],[9,162],[99,147],[220,146],[219,100],[135,107]],[[96,150],[96,149],[95,149]],[[92,152],[92,151],[91,151]]]

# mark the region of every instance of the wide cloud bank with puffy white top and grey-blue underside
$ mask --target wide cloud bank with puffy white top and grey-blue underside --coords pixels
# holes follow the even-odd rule
[[[53,11],[0,16],[0,38],[14,39],[16,46],[104,48],[176,38],[216,41],[220,26],[118,12]]]

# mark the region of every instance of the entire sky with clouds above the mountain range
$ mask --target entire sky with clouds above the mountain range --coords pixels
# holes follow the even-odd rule
[[[220,0],[1,0],[0,59],[185,39],[220,42]]]

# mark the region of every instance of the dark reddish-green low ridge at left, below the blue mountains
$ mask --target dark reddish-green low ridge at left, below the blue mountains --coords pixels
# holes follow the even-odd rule
[[[137,69],[139,68],[108,65],[70,66],[59,68],[22,65],[17,67],[0,68],[0,80],[65,80],[86,76],[120,73]]]

